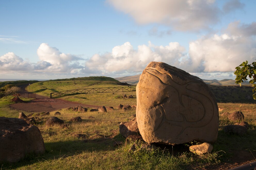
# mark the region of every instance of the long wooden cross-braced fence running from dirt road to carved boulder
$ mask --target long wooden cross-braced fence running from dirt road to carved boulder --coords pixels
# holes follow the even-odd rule
[[[70,94],[87,94],[87,93],[103,93],[103,92],[129,92],[129,91],[135,91],[136,86],[128,86],[128,87],[99,87],[99,88],[82,88],[82,89],[76,89],[76,90],[66,90],[61,92],[54,92],[50,93],[50,98],[53,96],[64,96],[64,95],[70,95]]]

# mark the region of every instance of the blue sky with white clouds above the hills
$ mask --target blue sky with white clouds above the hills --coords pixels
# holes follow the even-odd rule
[[[141,74],[165,62],[235,79],[256,60],[255,0],[0,0],[0,79]]]

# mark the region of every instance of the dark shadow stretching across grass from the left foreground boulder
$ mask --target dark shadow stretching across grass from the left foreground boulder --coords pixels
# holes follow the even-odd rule
[[[57,142],[45,142],[45,153],[42,155],[27,154],[25,158],[17,163],[0,163],[0,169],[15,169],[22,166],[32,165],[38,162],[49,162],[53,159],[65,158],[80,154],[84,151],[87,152],[99,152],[115,150],[118,147],[113,146],[113,142],[116,140],[124,139],[120,134],[114,138],[104,138],[101,135],[97,135],[96,139],[75,139],[68,141]]]

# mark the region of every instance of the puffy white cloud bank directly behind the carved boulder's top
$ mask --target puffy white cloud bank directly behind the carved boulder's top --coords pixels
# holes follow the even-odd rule
[[[170,42],[167,46],[155,46],[149,42],[148,45],[139,45],[138,49],[126,42],[114,47],[111,53],[93,55],[85,65],[90,70],[100,70],[104,74],[137,73],[151,61],[162,61],[183,68],[187,64],[185,58],[186,49],[178,42]]]

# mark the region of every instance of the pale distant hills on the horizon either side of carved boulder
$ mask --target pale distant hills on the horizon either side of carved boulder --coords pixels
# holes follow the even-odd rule
[[[115,78],[119,82],[126,82],[128,84],[137,85],[140,79],[140,74],[135,76],[126,76],[126,77],[117,77]],[[223,79],[223,80],[206,80],[202,79],[206,84],[217,85],[217,86],[228,86],[228,85],[237,85],[236,80],[232,79]],[[244,82],[242,85],[249,85],[249,82]]]

